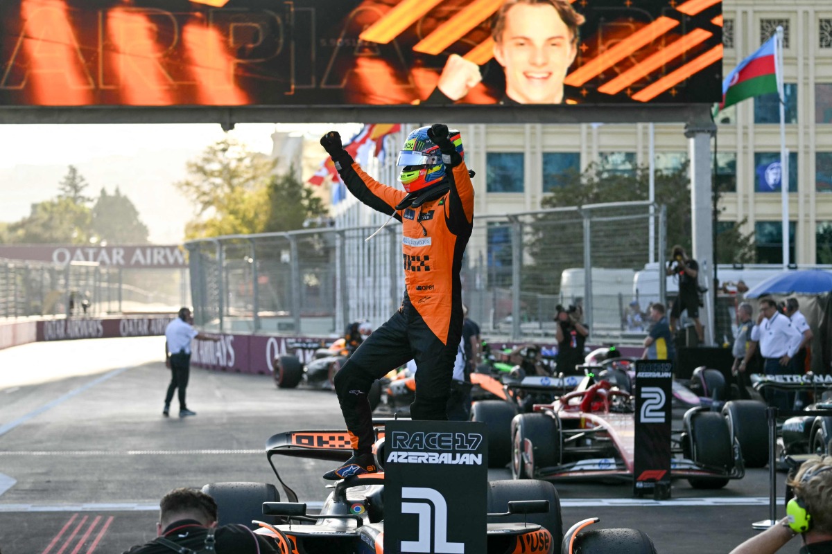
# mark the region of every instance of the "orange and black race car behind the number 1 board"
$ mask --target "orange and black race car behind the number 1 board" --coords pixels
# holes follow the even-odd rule
[[[383,424],[383,422],[376,422]],[[376,428],[377,436],[384,430]],[[384,472],[364,473],[338,481],[319,513],[280,478],[275,456],[344,461],[351,453],[346,431],[313,430],[275,434],[266,443],[269,463],[289,502],[280,502],[268,483],[210,483],[203,491],[219,507],[220,525],[239,523],[270,537],[280,552],[319,554],[384,552]],[[384,439],[376,442],[376,461],[384,467]],[[650,537],[636,529],[581,532],[592,518],[562,530],[560,500],[552,483],[530,480],[493,481],[488,487],[488,552],[655,552]],[[580,532],[580,533],[579,533]]]

